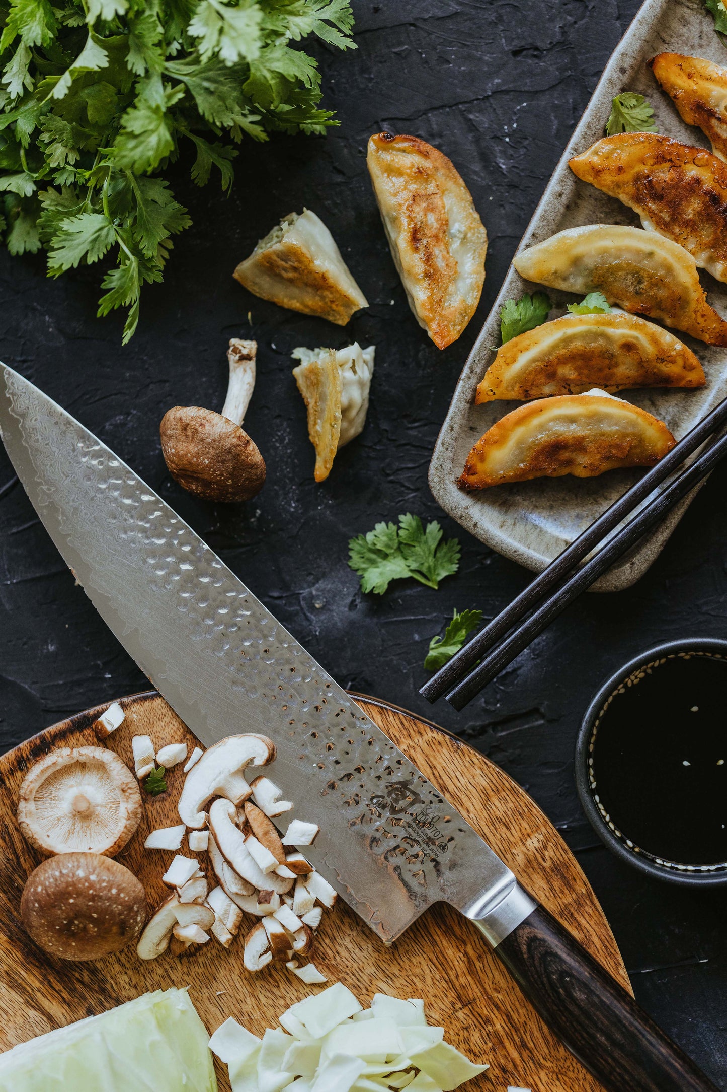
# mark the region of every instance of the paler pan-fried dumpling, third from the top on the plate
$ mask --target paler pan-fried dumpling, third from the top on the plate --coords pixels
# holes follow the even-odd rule
[[[727,345],[727,322],[707,304],[696,262],[655,232],[622,224],[569,227],[516,254],[512,264],[526,281],[583,295],[602,292],[634,314]]]

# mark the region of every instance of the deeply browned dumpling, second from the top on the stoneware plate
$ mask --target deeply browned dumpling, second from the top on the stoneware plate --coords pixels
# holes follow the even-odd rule
[[[727,164],[712,152],[659,133],[617,133],[569,163],[583,181],[638,212],[644,227],[727,281]]]

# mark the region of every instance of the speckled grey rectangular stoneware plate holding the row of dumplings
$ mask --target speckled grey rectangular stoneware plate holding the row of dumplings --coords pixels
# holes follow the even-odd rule
[[[703,0],[646,0],[621,44],[614,52],[568,147],[556,167],[520,250],[542,242],[556,232],[581,224],[633,224],[639,218],[615,198],[575,178],[568,166],[572,155],[585,151],[604,135],[614,95],[638,91],[654,107],[659,132],[688,144],[708,147],[701,129],[684,124],[666,93],[662,92],[646,61],[670,51],[704,57],[727,66],[727,50],[715,34]],[[703,270],[702,283],[708,300],[727,316],[727,285]],[[429,485],[441,507],[482,542],[529,569],[540,571],[568,543],[596,519],[637,479],[639,471],[611,471],[596,478],[537,478],[517,485],[497,486],[467,494],[457,486],[468,452],[483,432],[521,403],[473,404],[477,383],[492,364],[499,345],[499,312],[506,299],[538,288],[510,269],[502,289],[485,322],[460,377],[449,413],[443,425],[429,468]],[[555,309],[580,297],[547,289]],[[707,384],[699,391],[620,391],[619,397],[642,406],[666,422],[677,439],[727,395],[727,353],[678,334],[702,364]],[[699,488],[699,487],[698,487]],[[633,584],[658,556],[683,515],[696,489],[670,513],[658,530],[623,557],[594,584],[594,591],[616,592]]]

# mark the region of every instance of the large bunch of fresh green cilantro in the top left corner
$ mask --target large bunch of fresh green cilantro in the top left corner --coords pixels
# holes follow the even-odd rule
[[[192,179],[232,185],[234,146],[322,133],[316,62],[293,44],[350,40],[348,0],[0,0],[0,235],[48,251],[48,273],[113,257],[98,313],[161,281],[191,223],[160,175],[186,145]]]

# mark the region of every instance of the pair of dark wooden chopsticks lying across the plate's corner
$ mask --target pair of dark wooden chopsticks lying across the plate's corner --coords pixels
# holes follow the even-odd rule
[[[687,436],[684,436],[683,439],[680,440],[679,443],[677,443],[671,451],[656,464],[656,466],[652,467],[647,474],[645,474],[639,482],[635,483],[635,485],[625,492],[622,497],[619,497],[619,499],[616,500],[610,508],[608,508],[602,515],[598,517],[597,520],[586,527],[578,538],[567,546],[566,549],[562,550],[562,553],[559,554],[558,557],[556,557],[555,560],[552,561],[550,565],[544,569],[543,572],[540,573],[540,575],[536,577],[528,585],[528,587],[525,587],[524,591],[521,592],[520,595],[518,595],[512,603],[505,608],[505,610],[502,610],[484,629],[482,629],[468,644],[464,645],[463,649],[460,650],[460,652],[452,656],[449,663],[445,664],[445,666],[441,667],[437,674],[422,687],[420,692],[423,693],[429,701],[436,701],[437,698],[441,697],[441,695],[447,690],[456,687],[452,693],[448,696],[448,700],[455,705],[455,708],[462,709],[463,705],[467,704],[467,702],[470,701],[471,698],[474,697],[474,695],[477,693],[487,681],[494,678],[502,667],[505,667],[512,658],[514,658],[514,656],[518,655],[519,652],[522,651],[522,649],[526,646],[529,640],[532,640],[535,633],[533,632],[532,637],[529,640],[525,640],[525,642],[520,645],[518,651],[512,652],[508,658],[502,660],[497,670],[495,670],[494,674],[490,674],[488,678],[485,678],[486,665],[490,664],[492,666],[496,658],[499,662],[502,656],[502,650],[510,648],[511,641],[501,645],[495,655],[488,657],[487,661],[483,662],[477,667],[476,672],[473,672],[471,676],[465,677],[468,669],[481,660],[487,652],[489,652],[497,644],[497,642],[512,629],[513,626],[530,614],[533,608],[535,608],[536,605],[541,603],[541,601],[543,601],[549,593],[554,593],[553,598],[555,600],[558,595],[558,587],[562,584],[569,573],[572,572],[579,561],[590,554],[591,550],[625,519],[625,517],[627,517],[642,500],[644,500],[644,498],[649,497],[649,495],[652,494],[654,489],[669,476],[669,474],[678,468],[684,459],[692,454],[692,452],[695,451],[695,449],[699,448],[700,444],[702,444],[722,425],[724,425],[725,422],[727,422],[727,399],[720,402],[718,406],[707,414],[707,416],[704,417],[690,432],[688,432]],[[712,451],[712,448],[710,451]],[[704,452],[698,460],[695,460],[689,467],[689,472],[692,472],[698,464],[701,465],[702,459],[706,458],[707,454],[708,452]],[[718,459],[716,461],[718,461]],[[712,468],[712,465],[714,464],[710,463],[710,468]],[[706,470],[703,473],[698,473],[692,480],[692,486],[708,472],[710,470]],[[681,483],[682,477],[683,475],[671,485],[676,485],[677,482]],[[689,491],[689,488],[692,486],[687,486],[684,491]],[[652,522],[647,523],[646,526],[651,526],[653,522],[661,519],[669,510],[669,508],[676,505],[677,501],[681,499],[681,496],[684,495],[682,492],[677,496],[676,492],[670,492],[670,489],[671,486],[662,490],[662,492],[654,497],[653,501],[650,502],[649,506],[644,507],[638,518],[634,518],[629,524],[627,524],[626,527],[614,536],[606,547],[599,550],[591,562],[580,570],[577,574],[578,577],[580,577],[584,570],[595,573],[591,575],[591,579],[586,583],[579,583],[578,586],[580,591],[590,586],[590,584],[593,583],[598,575],[606,571],[616,558],[620,557],[630,545],[633,545],[633,543],[644,534],[644,529],[641,523],[637,525],[635,531],[631,531],[630,529],[633,526],[637,519],[641,520],[644,513],[651,512],[652,505],[658,505],[659,507],[656,510],[657,514],[653,517]],[[669,503],[666,503],[664,500],[667,496],[669,498],[674,498]],[[664,507],[665,505],[666,507]],[[639,531],[638,527],[642,527],[642,530]],[[617,547],[615,547],[614,544],[621,543],[621,536],[629,533],[630,535],[635,535],[635,537],[629,536],[627,545],[619,548],[617,553],[609,553],[609,560],[604,561],[604,558],[602,557],[604,550],[616,549]],[[599,569],[598,572],[589,568],[589,566],[595,562],[596,559],[599,559],[599,565],[605,566]],[[580,594],[580,591],[575,592],[575,595]],[[575,595],[569,597],[567,602],[559,607],[556,614],[560,613],[567,603],[570,603]],[[553,617],[555,617],[555,615],[553,615]],[[540,629],[537,629],[537,632],[540,633],[546,625],[547,621],[544,622]],[[524,630],[525,627],[522,627],[522,629]],[[518,633],[520,632],[521,630],[518,630]],[[514,637],[516,634],[513,634],[511,640],[513,640]],[[475,677],[478,681],[476,688],[473,689],[475,684],[472,680]],[[480,679],[482,679],[482,681],[480,681]],[[464,690],[461,690],[461,688],[464,688]],[[462,695],[464,693],[469,693],[469,697],[462,698]],[[461,702],[461,704],[459,702]]]

